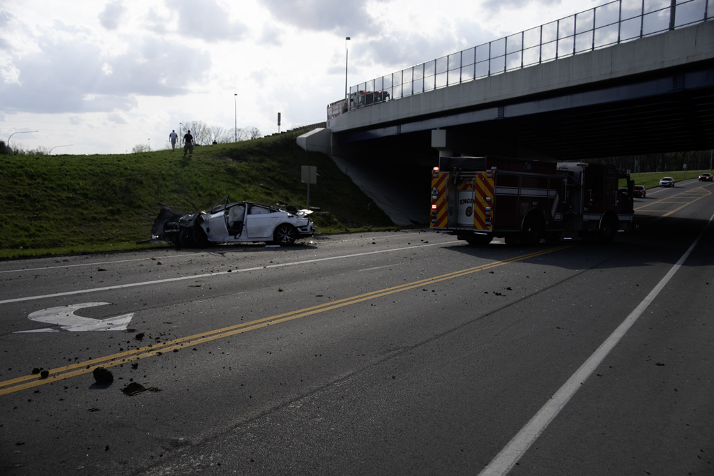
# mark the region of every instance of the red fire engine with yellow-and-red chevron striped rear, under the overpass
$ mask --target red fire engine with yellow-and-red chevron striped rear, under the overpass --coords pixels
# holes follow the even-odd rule
[[[626,187],[618,187],[624,179]],[[431,229],[470,244],[610,242],[633,227],[630,176],[603,164],[441,157],[431,174]]]

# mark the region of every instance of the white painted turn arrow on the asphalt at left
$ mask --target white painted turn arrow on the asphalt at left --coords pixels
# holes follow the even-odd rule
[[[62,329],[69,332],[84,332],[84,331],[109,331],[109,330],[125,330],[126,326],[134,317],[134,312],[131,314],[123,314],[121,316],[107,317],[106,319],[92,319],[91,317],[81,317],[74,315],[75,311],[83,307],[104,306],[109,302],[83,302],[81,304],[71,304],[69,306],[49,307],[48,309],[40,309],[39,311],[30,314],[28,319],[36,322],[46,322],[47,324],[56,324]],[[45,327],[44,329],[33,329],[29,331],[19,331],[15,334],[23,332],[59,332],[57,329]]]

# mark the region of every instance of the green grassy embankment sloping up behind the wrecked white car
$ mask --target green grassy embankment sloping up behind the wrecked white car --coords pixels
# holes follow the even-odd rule
[[[318,233],[393,227],[324,154],[304,152],[298,134],[183,151],[116,155],[0,156],[0,258],[135,249],[151,237],[161,204],[193,212],[232,201],[306,207],[301,165]],[[156,246],[156,245],[151,245]],[[146,246],[144,246],[146,247]]]

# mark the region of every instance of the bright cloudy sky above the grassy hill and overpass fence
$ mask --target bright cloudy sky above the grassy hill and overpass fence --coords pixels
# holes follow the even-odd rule
[[[165,148],[179,122],[262,134],[326,120],[348,84],[604,0],[2,0],[0,140]],[[237,96],[235,96],[237,94]]]

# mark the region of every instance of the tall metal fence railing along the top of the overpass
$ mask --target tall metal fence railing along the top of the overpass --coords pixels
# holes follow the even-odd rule
[[[713,16],[714,0],[614,0],[352,86],[345,102],[349,110],[371,106],[703,23]]]

